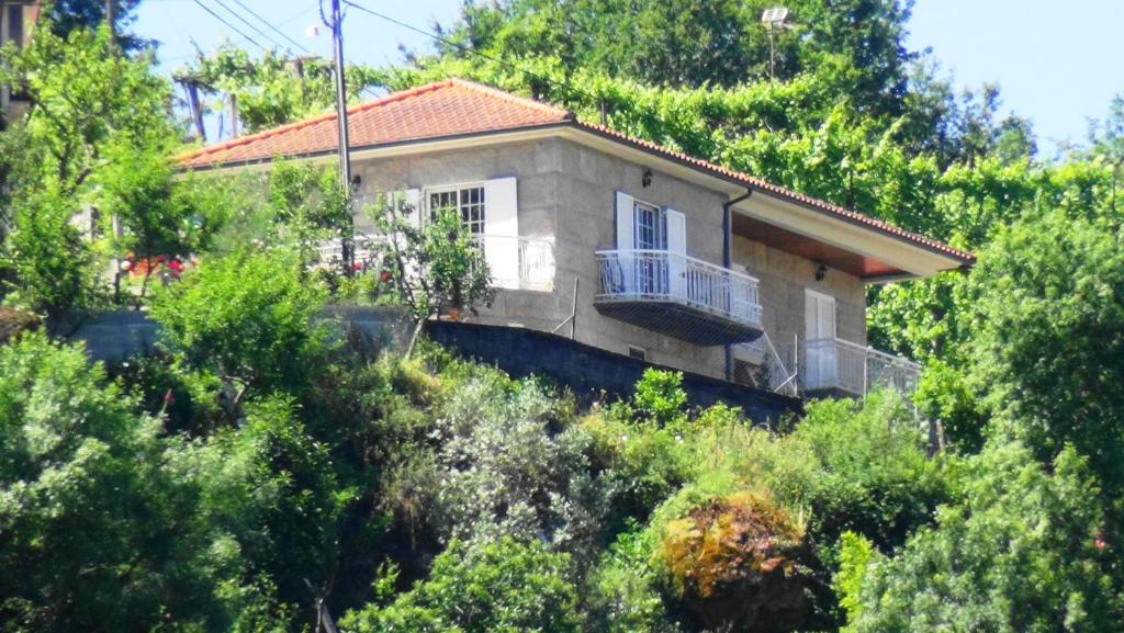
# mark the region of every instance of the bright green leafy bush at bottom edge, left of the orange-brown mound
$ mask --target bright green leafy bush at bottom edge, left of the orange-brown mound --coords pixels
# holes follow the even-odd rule
[[[532,541],[454,541],[429,577],[384,606],[348,614],[356,633],[577,633],[577,595],[565,554]]]

